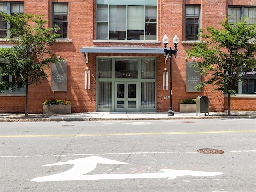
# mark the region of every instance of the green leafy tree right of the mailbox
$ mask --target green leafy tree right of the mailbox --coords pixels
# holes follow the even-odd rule
[[[256,24],[248,25],[248,19],[229,24],[228,18],[217,30],[206,27],[202,30],[205,41],[195,43],[186,50],[188,57],[197,57],[194,67],[201,70],[206,77],[205,82],[197,85],[201,90],[206,84],[214,86],[213,91],[228,94],[228,116],[231,115],[231,94],[234,87],[243,81],[242,72],[251,71],[256,67]]]

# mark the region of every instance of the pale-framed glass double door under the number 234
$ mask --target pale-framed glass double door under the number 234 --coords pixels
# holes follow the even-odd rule
[[[138,82],[115,82],[115,111],[138,112]]]

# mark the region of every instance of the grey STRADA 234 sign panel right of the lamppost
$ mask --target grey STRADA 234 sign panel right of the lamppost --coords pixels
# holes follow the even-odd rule
[[[186,92],[201,92],[195,89],[201,83],[200,69],[194,69],[193,64],[194,62],[186,62]]]

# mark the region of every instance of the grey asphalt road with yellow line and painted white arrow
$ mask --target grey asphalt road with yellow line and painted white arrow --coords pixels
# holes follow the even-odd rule
[[[255,158],[256,119],[0,123],[1,192],[252,192]]]

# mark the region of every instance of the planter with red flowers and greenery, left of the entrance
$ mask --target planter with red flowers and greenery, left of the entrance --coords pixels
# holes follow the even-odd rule
[[[43,102],[43,114],[71,113],[71,102],[62,99],[52,99]]]

